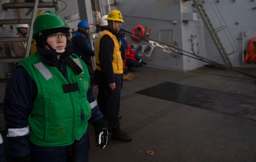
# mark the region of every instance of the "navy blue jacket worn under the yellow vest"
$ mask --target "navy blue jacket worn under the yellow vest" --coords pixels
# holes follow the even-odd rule
[[[121,34],[114,32],[112,29],[106,27],[112,32],[117,39],[121,38]],[[101,70],[96,69],[93,74],[93,83],[101,86],[109,86],[109,83],[115,83],[116,86],[122,85],[122,74],[115,74],[113,71],[113,53],[114,42],[109,35],[104,35],[100,39],[99,59]]]

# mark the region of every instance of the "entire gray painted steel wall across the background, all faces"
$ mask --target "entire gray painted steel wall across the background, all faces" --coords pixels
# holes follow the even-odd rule
[[[212,0],[210,0],[212,1]],[[206,57],[210,60],[216,61],[218,63],[223,64],[223,60],[220,54],[217,52],[217,48],[215,47],[208,30],[204,27],[202,23],[201,17],[197,9],[192,5],[192,1],[182,2],[182,1],[154,1],[154,0],[119,0],[118,1],[118,9],[123,14],[124,23],[122,23],[123,27],[132,31],[132,29],[140,24],[142,26],[150,28],[150,36],[148,38],[157,40],[158,32],[161,29],[174,29],[175,37],[174,40],[178,39],[180,46],[183,50],[192,52],[191,50],[191,42],[190,35],[196,35],[193,43],[199,44],[199,55],[202,57]],[[249,41],[251,38],[256,37],[256,22],[254,21],[254,12],[256,11],[253,7],[256,6],[255,1],[220,1],[217,3],[217,6],[220,10],[221,15],[223,16],[227,26],[230,29],[230,32],[235,39],[234,42],[238,46],[238,51],[232,55],[230,55],[231,62],[235,67],[242,66],[242,41],[241,41],[241,33],[242,31],[246,31],[248,37],[244,38],[244,49],[248,48]],[[214,16],[214,12],[210,7],[209,1],[204,3],[204,7],[211,18],[214,26],[217,28],[220,26],[218,23],[218,19]],[[184,23],[182,21],[182,13],[197,13],[197,21],[188,21],[188,23]],[[157,20],[159,19],[159,20]],[[164,19],[164,20],[163,20]],[[177,24],[173,24],[172,20],[178,20]],[[235,22],[238,21],[239,24]],[[230,35],[229,35],[230,36]],[[219,32],[219,37],[226,49],[229,53],[232,51],[231,44],[228,43],[226,36],[224,36],[223,31]],[[238,40],[237,40],[238,38]],[[135,42],[128,37],[130,43],[137,44],[147,44],[146,42]],[[232,43],[234,43],[232,42]],[[194,46],[195,51],[197,52],[197,46]],[[236,50],[236,49],[235,49]],[[153,61],[149,59],[145,59],[148,63],[157,66],[171,67],[177,69],[190,70],[197,67],[200,67],[204,64],[204,62],[184,57],[166,57],[168,54],[161,51],[159,48],[155,48],[151,57]],[[255,63],[246,63],[245,67],[256,67]]]

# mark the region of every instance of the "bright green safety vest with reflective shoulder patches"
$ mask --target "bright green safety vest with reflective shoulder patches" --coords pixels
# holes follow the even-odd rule
[[[87,130],[91,107],[87,101],[90,76],[80,58],[70,58],[83,70],[77,74],[67,64],[68,81],[56,67],[42,63],[41,55],[23,59],[23,66],[37,86],[37,97],[28,117],[29,139],[40,146],[66,146],[79,140]],[[77,85],[77,91],[64,92],[63,84]],[[84,116],[84,118],[83,118]]]

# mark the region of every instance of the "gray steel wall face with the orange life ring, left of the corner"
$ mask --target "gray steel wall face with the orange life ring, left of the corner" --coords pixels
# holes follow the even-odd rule
[[[119,0],[118,10],[123,15],[124,23],[122,26],[125,30],[132,32],[136,25],[142,25],[144,28],[149,28],[149,39],[158,41],[158,33],[161,29],[173,29],[174,40],[182,46],[181,35],[181,15],[180,4],[177,1],[155,1],[155,0]],[[177,24],[173,24],[173,20],[178,20]],[[129,43],[148,44],[145,41],[136,42],[127,36]],[[147,37],[146,37],[147,38]],[[150,56],[153,60],[145,58],[148,66],[159,68],[175,68],[183,69],[183,57],[174,57],[168,53],[163,52],[156,47]]]

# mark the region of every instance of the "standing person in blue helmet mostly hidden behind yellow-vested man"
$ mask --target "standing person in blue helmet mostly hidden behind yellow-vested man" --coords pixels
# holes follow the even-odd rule
[[[121,37],[121,55],[122,55],[122,59],[124,61],[124,65],[123,65],[123,71],[124,73],[127,73],[124,69],[125,69],[125,64],[126,64],[126,57],[127,55],[129,55],[129,51],[130,51],[130,45],[129,45],[129,41],[127,39],[127,37],[124,35],[124,28],[121,27],[120,28],[120,34],[122,34],[122,37]]]

